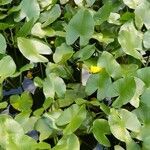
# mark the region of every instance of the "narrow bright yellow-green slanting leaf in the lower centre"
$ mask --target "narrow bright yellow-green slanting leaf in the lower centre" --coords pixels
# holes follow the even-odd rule
[[[70,123],[63,130],[64,135],[69,135],[75,132],[82,122],[86,119],[85,105],[81,106],[78,113],[71,119]]]

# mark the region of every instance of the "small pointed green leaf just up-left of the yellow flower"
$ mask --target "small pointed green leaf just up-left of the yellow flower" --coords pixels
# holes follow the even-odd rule
[[[80,49],[77,51],[73,58],[74,59],[79,59],[79,61],[84,61],[89,59],[93,53],[95,52],[95,46],[94,45],[87,45],[84,48]]]

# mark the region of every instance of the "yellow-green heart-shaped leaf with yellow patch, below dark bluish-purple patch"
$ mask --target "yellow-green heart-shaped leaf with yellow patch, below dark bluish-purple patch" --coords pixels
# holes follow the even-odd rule
[[[24,92],[19,95],[12,95],[10,97],[10,104],[19,111],[30,111],[33,100],[28,92]]]

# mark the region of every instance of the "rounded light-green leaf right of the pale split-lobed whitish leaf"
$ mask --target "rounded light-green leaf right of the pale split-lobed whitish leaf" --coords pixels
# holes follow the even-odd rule
[[[53,60],[55,63],[65,63],[73,55],[73,49],[71,46],[62,43],[61,46],[56,48],[56,51],[53,55]]]

